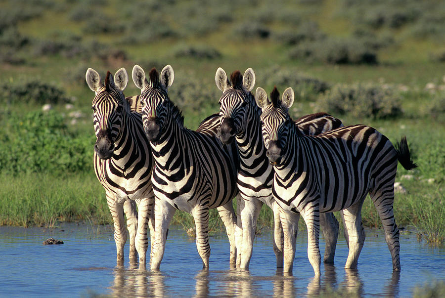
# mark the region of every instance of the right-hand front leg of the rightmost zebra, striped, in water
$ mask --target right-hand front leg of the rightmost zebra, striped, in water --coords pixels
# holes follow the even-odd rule
[[[318,208],[317,210],[314,210],[315,206],[308,207],[309,208],[301,211],[301,215],[303,216],[306,227],[308,228],[308,258],[312,265],[314,274],[320,275],[321,255],[320,248],[318,246],[320,235],[320,213],[318,212]]]

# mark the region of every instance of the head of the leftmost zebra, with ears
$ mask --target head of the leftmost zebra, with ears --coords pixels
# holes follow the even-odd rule
[[[101,159],[109,159],[114,153],[114,143],[123,127],[124,110],[129,109],[123,90],[128,83],[125,68],[113,75],[107,72],[105,84],[100,82],[99,74],[89,68],[85,75],[89,88],[96,96],[92,101],[94,133],[97,137],[94,151]]]

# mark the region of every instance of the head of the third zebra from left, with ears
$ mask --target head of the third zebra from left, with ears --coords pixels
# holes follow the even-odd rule
[[[229,81],[220,67],[215,75],[215,83],[223,91],[219,101],[221,125],[218,128],[218,136],[223,143],[228,144],[245,127],[246,105],[253,97],[250,91],[255,85],[255,73],[252,68],[248,68],[244,76],[235,71],[230,75]]]

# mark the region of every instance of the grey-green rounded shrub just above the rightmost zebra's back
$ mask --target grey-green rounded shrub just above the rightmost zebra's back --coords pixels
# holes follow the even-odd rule
[[[335,85],[317,103],[334,115],[384,119],[400,116],[401,102],[393,88],[372,84]]]

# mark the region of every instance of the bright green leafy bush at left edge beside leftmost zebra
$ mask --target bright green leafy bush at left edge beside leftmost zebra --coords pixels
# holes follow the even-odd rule
[[[92,170],[94,134],[69,131],[53,110],[2,115],[0,172],[63,173]]]

